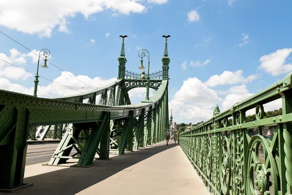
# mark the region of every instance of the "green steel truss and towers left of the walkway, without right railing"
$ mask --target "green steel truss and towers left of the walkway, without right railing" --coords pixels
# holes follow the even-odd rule
[[[0,160],[0,188],[12,189],[23,184],[26,139],[31,128],[38,127],[39,139],[49,134],[52,134],[50,138],[61,139],[49,162],[51,165],[77,158],[78,166],[88,166],[96,153],[101,159],[109,159],[110,150],[115,150],[118,155],[123,155],[126,148],[132,151],[140,137],[143,146],[164,139],[164,128],[168,125],[168,79],[154,77],[160,78],[165,71],[153,73],[153,78],[149,79],[149,87],[157,90],[149,102],[131,104],[128,91],[146,87],[146,83],[142,79],[125,79],[125,37],[122,36],[118,59],[118,79],[104,87],[55,99],[0,90],[0,154],[6,159]],[[138,139],[137,118],[141,118]],[[50,131],[51,125],[55,125],[54,131]],[[29,137],[34,135],[35,132],[30,133]],[[136,144],[137,149],[140,143]],[[77,152],[70,155],[73,148]]]

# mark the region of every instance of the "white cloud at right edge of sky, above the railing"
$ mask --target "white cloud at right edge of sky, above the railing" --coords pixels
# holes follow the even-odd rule
[[[272,76],[277,76],[283,73],[292,71],[292,64],[285,64],[286,59],[291,54],[292,48],[278,49],[274,53],[260,57],[261,62],[259,69],[263,69],[266,73]]]

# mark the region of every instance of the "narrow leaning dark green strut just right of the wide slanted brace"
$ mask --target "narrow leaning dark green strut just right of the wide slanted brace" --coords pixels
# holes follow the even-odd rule
[[[130,129],[133,128],[133,120],[134,120],[134,111],[129,111],[130,112],[130,117],[125,119],[125,123],[123,125],[120,141],[119,141],[119,146],[117,150],[117,155],[123,155],[125,153],[126,145],[128,142],[128,135]]]

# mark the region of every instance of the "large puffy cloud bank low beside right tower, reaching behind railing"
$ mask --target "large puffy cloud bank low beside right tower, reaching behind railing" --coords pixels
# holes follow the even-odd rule
[[[220,98],[218,94],[226,95]],[[198,78],[188,78],[183,81],[183,86],[178,90],[173,99],[169,101],[169,109],[173,109],[174,120],[178,123],[196,123],[211,119],[214,107],[219,105],[221,112],[254,94],[250,93],[247,86],[242,84],[233,86],[227,91],[216,92]],[[281,98],[264,105],[265,111],[281,108]],[[248,110],[246,116],[254,115],[255,109]]]

